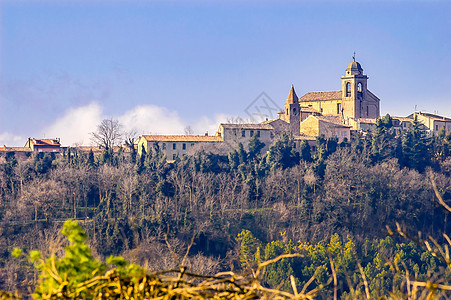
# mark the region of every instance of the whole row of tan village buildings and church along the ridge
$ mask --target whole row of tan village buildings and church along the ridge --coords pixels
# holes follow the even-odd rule
[[[193,151],[207,147],[209,150],[229,150],[239,143],[247,146],[252,137],[256,136],[265,144],[262,151],[281,134],[289,134],[294,147],[302,141],[315,145],[317,136],[325,138],[336,137],[339,142],[350,139],[355,131],[366,131],[376,124],[380,117],[380,99],[368,89],[368,76],[363,68],[353,59],[341,76],[341,90],[309,92],[298,97],[294,86],[288,93],[284,109],[278,113],[278,118],[261,123],[239,124],[224,123],[214,136],[204,135],[142,135],[136,139],[134,148],[138,153],[151,151],[159,147],[168,160],[190,154]],[[394,130],[408,129],[417,120],[422,129],[431,135],[444,129],[451,131],[451,119],[422,112],[415,112],[408,117],[393,117]],[[81,151],[100,152],[99,147],[78,147]],[[31,139],[24,147],[0,147],[2,152],[62,152],[59,139]]]

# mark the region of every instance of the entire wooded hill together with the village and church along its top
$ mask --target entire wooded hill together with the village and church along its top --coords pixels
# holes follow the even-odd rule
[[[212,136],[143,135],[118,146],[123,135],[109,130],[118,121],[106,119],[92,134],[109,134],[102,147],[64,147],[57,138],[2,147],[0,298],[2,289],[50,286],[42,281],[48,267],[67,278],[52,285],[58,295],[119,290],[121,282],[138,290],[129,283],[146,278],[161,286],[157,277],[133,281],[144,272],[180,270],[171,284],[220,274],[224,286],[224,274],[262,270],[242,280],[294,291],[293,299],[307,286],[318,291],[312,299],[360,299],[364,288],[366,299],[408,299],[410,288],[425,295],[428,286],[446,299],[451,119],[381,117],[381,100],[354,60],[341,90],[287,92],[277,118],[219,124]],[[58,235],[63,221],[70,244]]]

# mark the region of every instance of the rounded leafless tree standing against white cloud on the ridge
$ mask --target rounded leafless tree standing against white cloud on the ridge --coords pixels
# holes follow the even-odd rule
[[[104,119],[98,126],[97,130],[91,132],[91,140],[106,150],[118,145],[122,142],[123,132],[122,125],[115,119]]]

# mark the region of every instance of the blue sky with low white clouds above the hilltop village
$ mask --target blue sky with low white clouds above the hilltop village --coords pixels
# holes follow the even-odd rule
[[[354,51],[383,114],[451,117],[451,1],[0,3],[0,145],[213,134],[261,92],[340,89]]]

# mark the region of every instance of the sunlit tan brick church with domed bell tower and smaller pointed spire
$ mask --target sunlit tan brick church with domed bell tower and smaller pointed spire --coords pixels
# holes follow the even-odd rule
[[[291,86],[278,115],[278,119],[264,122],[275,132],[349,140],[352,130],[367,130],[375,124],[380,117],[380,99],[368,89],[368,76],[353,58],[341,76],[341,90],[309,92],[299,98]]]

